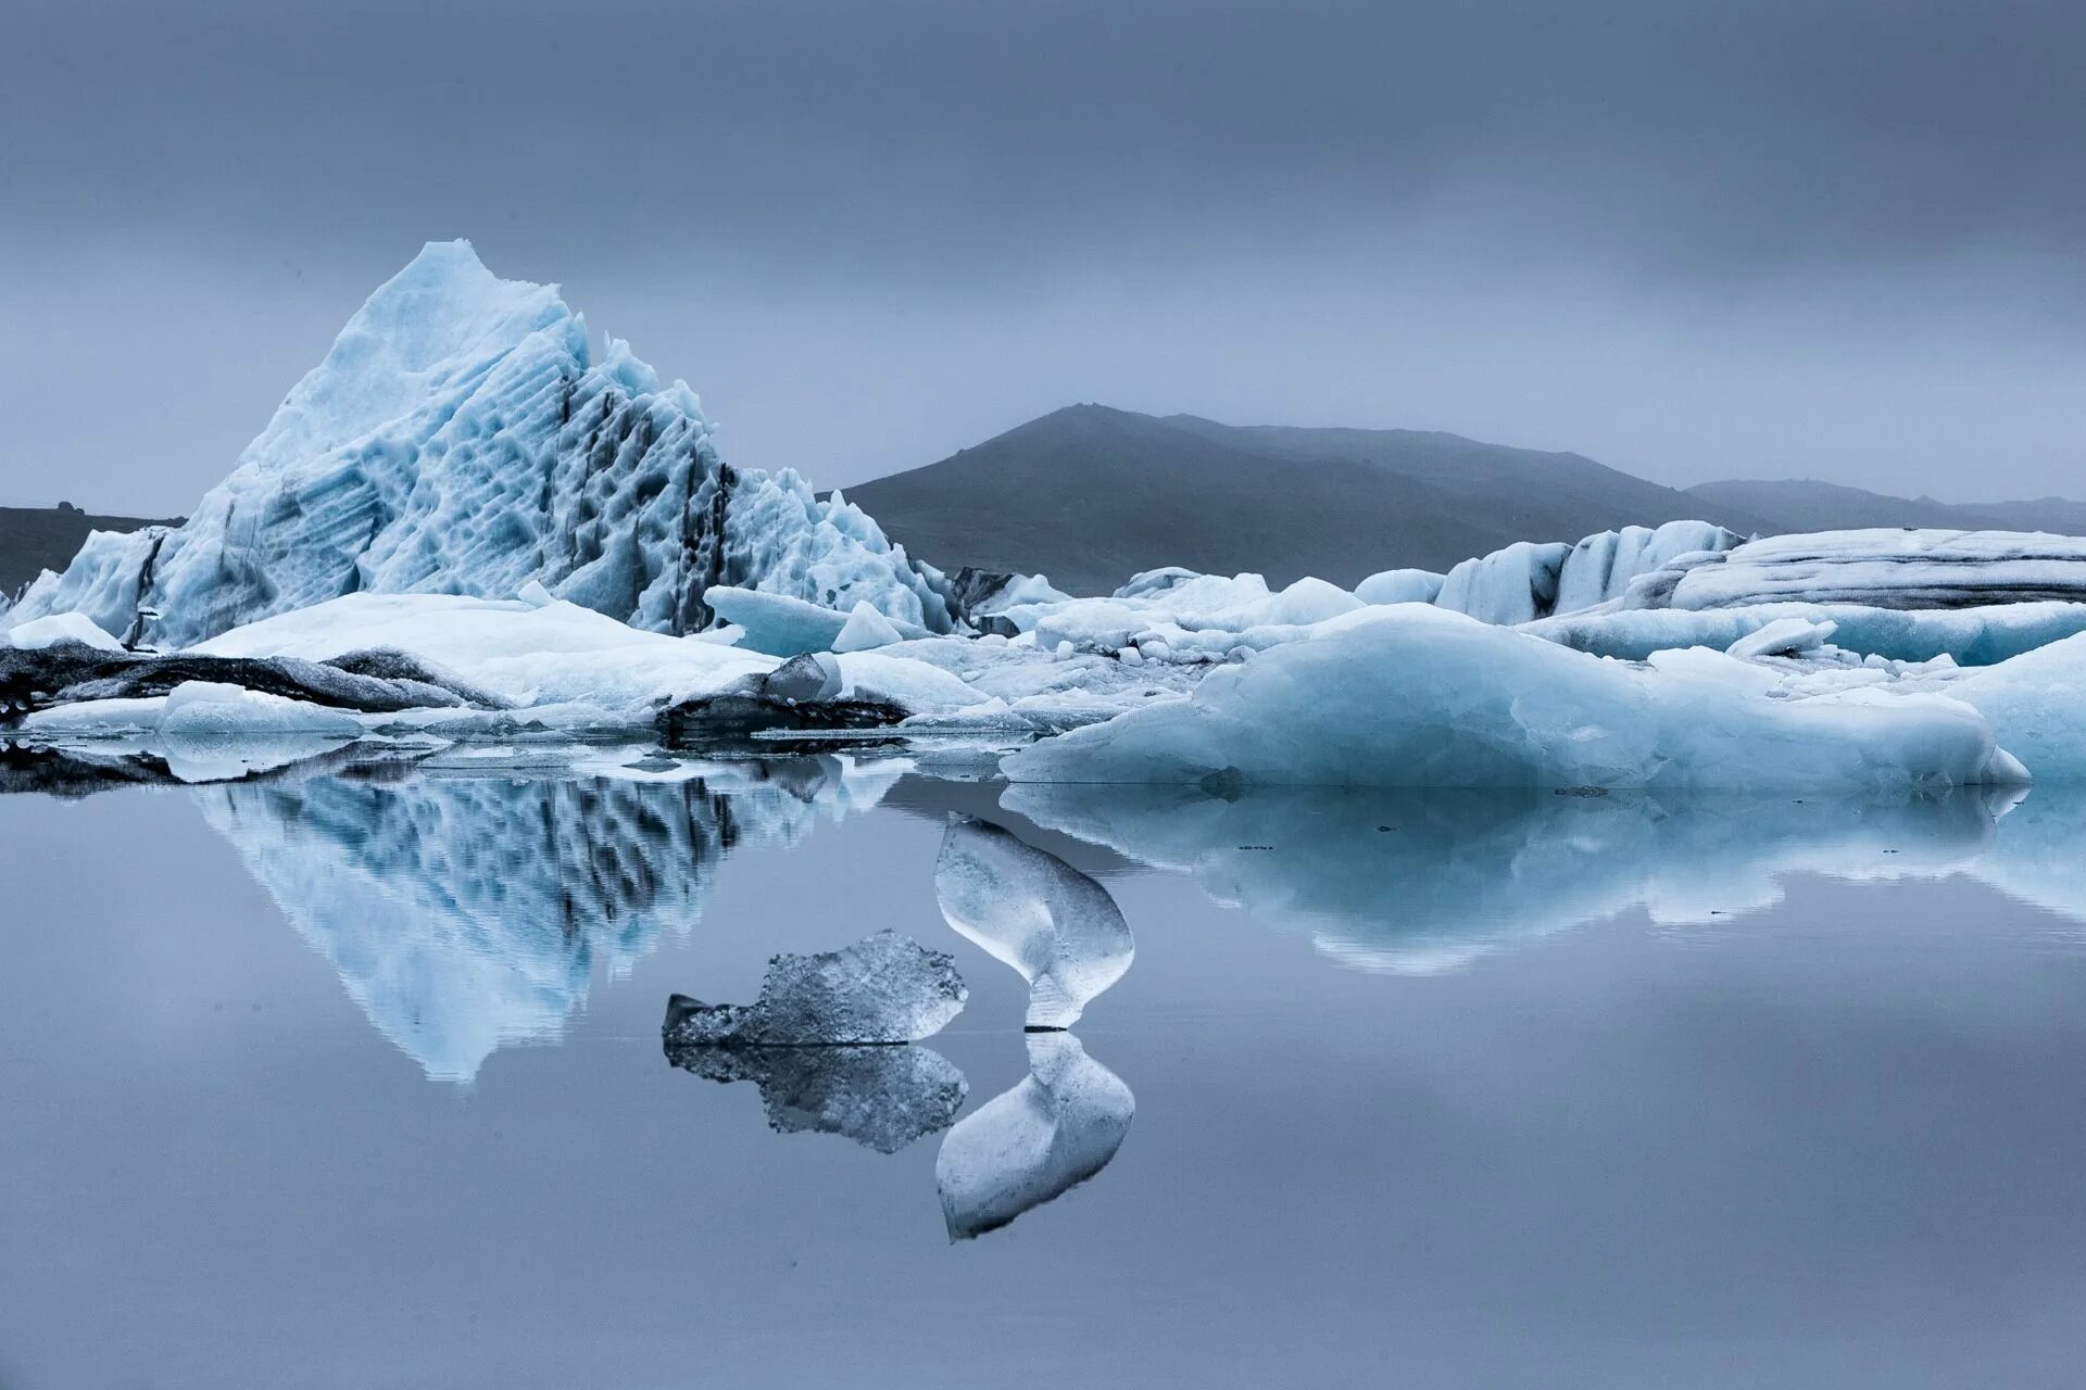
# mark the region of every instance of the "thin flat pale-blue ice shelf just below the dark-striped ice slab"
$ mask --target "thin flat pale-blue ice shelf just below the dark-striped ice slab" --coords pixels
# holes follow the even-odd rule
[[[1596,656],[1644,661],[1681,646],[1729,648],[1748,634],[1796,619],[1832,623],[1834,644],[1865,656],[1984,667],[2086,631],[2086,604],[2021,602],[1980,609],[1877,609],[1871,604],[1769,602],[1746,609],[1635,609],[1579,613],[1523,631]]]

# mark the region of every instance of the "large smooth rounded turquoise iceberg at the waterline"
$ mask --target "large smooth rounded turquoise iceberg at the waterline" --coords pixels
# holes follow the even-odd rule
[[[1685,656],[1685,659],[1681,659]],[[1318,627],[1179,700],[1014,752],[1014,781],[1948,788],[2019,777],[1978,711],[1925,694],[1777,698],[1721,652],[1635,667],[1400,604]]]

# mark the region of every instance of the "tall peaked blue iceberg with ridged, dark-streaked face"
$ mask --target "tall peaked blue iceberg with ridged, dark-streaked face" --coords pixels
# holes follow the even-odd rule
[[[434,242],[348,321],[188,523],[94,533],[6,623],[81,611],[188,646],[357,592],[511,598],[528,584],[653,631],[732,584],[945,631],[939,575],[791,471],[732,469],[682,381],[555,286]]]

